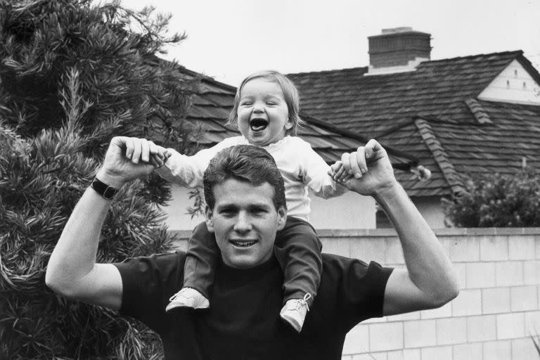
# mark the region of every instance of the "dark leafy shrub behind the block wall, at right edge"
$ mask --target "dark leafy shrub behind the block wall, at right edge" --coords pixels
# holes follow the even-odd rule
[[[443,200],[446,217],[458,227],[540,226],[540,174],[489,174],[465,181],[465,192]]]

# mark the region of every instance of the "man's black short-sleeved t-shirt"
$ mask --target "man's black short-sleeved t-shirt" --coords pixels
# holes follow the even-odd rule
[[[210,309],[165,307],[181,288],[185,252],[115,264],[123,283],[120,312],[160,335],[165,359],[341,359],[347,332],[383,316],[392,269],[375,262],[323,254],[319,294],[300,334],[279,317],[283,272],[275,258],[252,269],[220,264]]]

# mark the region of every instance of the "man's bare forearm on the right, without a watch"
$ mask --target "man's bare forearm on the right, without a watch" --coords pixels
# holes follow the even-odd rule
[[[454,266],[444,254],[435,233],[399,184],[375,196],[392,220],[403,247],[411,281],[434,304],[447,302],[456,295],[458,283]]]

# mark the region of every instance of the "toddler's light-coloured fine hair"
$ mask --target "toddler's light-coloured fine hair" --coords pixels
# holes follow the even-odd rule
[[[290,129],[285,130],[285,135],[296,136],[298,127],[301,127],[302,124],[304,124],[304,121],[300,119],[299,115],[300,96],[298,95],[298,90],[296,89],[295,84],[293,84],[288,77],[281,74],[281,72],[277,72],[275,70],[255,72],[243,79],[240,86],[238,86],[238,89],[236,89],[233,110],[231,110],[231,114],[229,114],[229,121],[227,124],[234,124],[238,121],[238,106],[240,104],[242,89],[244,88],[245,84],[253,79],[265,79],[269,82],[274,82],[281,87],[281,91],[283,91],[283,98],[285,98],[285,103],[287,104],[287,108],[289,110],[289,120],[293,123],[293,126]]]

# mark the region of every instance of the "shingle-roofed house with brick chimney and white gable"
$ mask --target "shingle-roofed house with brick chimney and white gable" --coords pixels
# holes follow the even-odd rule
[[[463,175],[539,167],[540,74],[522,51],[430,60],[430,50],[430,34],[383,30],[369,37],[369,66],[288,76],[305,113],[430,169],[428,181],[396,175],[440,228],[440,200],[463,190]]]

